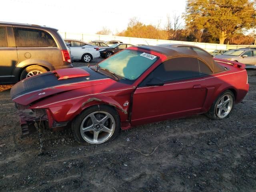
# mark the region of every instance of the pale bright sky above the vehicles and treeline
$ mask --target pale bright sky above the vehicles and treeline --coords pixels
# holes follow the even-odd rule
[[[186,0],[2,0],[0,21],[38,24],[60,32],[95,34],[103,27],[113,34],[130,18],[164,28],[167,14],[182,15]],[[184,25],[184,21],[182,21]]]

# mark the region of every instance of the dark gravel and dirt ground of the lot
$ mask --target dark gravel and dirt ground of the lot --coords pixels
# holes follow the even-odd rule
[[[255,192],[256,70],[248,74],[250,91],[226,120],[139,126],[99,146],[46,131],[44,156],[37,133],[21,135],[11,86],[0,86],[0,191]]]

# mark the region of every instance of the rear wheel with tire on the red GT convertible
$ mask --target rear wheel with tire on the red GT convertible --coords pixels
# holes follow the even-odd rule
[[[206,115],[213,120],[228,118],[234,108],[234,104],[235,96],[233,92],[226,90],[216,98]]]

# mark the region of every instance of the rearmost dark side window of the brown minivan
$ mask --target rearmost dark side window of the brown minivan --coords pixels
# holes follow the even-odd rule
[[[52,36],[43,30],[14,27],[17,47],[57,47]]]

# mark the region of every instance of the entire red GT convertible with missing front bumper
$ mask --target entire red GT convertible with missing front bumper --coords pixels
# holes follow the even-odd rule
[[[71,125],[79,143],[101,144],[120,130],[194,114],[229,116],[249,89],[244,64],[184,48],[130,47],[94,67],[60,69],[13,86],[22,132],[40,122]]]

